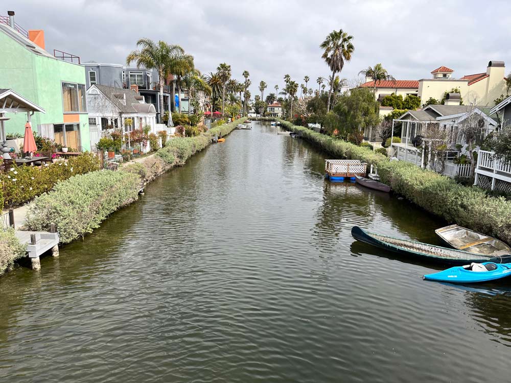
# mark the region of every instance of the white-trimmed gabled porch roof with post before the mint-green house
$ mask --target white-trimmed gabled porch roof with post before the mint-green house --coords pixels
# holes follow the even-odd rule
[[[34,112],[46,113],[43,108],[22,97],[14,90],[0,89],[0,153],[2,153],[3,158],[11,158],[10,150],[7,149],[4,126],[4,121],[7,121],[9,117],[6,117],[5,113],[27,113],[27,121],[30,123],[31,115]]]

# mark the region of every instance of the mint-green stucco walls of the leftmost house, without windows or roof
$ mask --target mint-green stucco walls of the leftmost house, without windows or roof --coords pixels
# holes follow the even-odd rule
[[[12,88],[46,113],[34,113],[32,127],[42,132],[45,124],[80,124],[80,145],[82,150],[90,150],[87,113],[67,113],[63,111],[62,82],[85,85],[83,66],[40,56],[27,50],[9,36],[0,32],[0,88]],[[7,133],[25,132],[25,113],[8,113]],[[53,127],[52,127],[53,128]]]

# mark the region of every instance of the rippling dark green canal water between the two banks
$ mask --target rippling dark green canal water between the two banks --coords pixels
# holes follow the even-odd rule
[[[355,242],[446,223],[324,181],[325,158],[253,123],[0,278],[0,381],[509,381],[511,283],[426,282]]]

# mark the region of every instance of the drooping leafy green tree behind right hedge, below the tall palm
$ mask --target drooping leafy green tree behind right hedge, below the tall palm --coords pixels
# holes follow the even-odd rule
[[[340,118],[339,135],[344,139],[367,127],[376,126],[380,121],[378,102],[367,88],[355,88],[350,94],[342,94],[334,112]]]

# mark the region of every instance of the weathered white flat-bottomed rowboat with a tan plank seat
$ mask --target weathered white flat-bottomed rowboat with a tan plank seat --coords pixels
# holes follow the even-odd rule
[[[497,238],[458,225],[436,229],[435,233],[446,244],[458,250],[483,255],[511,254],[511,248]]]

